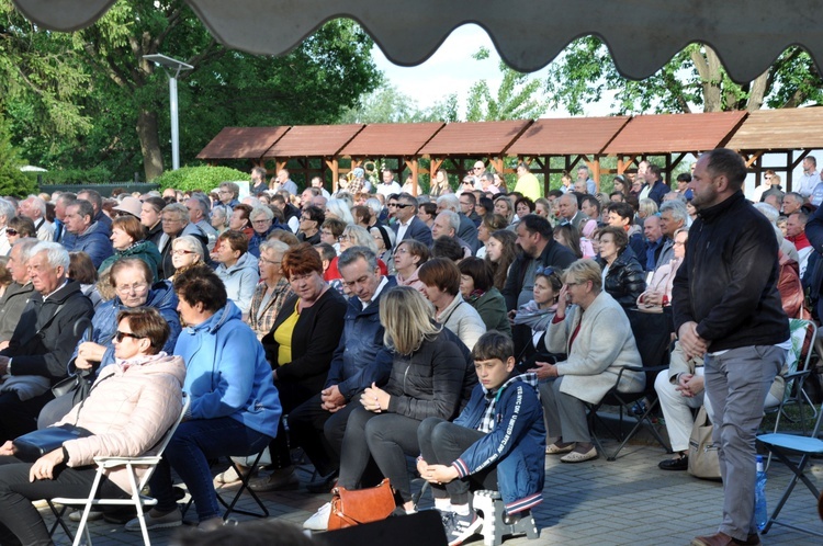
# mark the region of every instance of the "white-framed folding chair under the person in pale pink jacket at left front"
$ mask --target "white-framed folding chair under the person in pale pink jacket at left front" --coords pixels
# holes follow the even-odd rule
[[[66,523],[63,521],[63,515],[66,512],[67,507],[83,507],[83,513],[82,517],[80,519],[80,524],[77,527],[77,532],[74,536],[74,546],[79,546],[81,542],[81,537],[83,534],[83,531],[86,531],[86,539],[89,545],[91,545],[91,533],[89,532],[89,527],[87,525],[89,513],[91,512],[92,507],[101,507],[101,505],[133,505],[135,510],[137,511],[137,519],[140,522],[140,531],[143,532],[143,542],[146,546],[149,546],[151,542],[148,538],[148,530],[146,528],[146,519],[143,513],[144,507],[154,507],[157,504],[157,499],[154,499],[151,497],[147,497],[145,494],[140,494],[140,491],[144,487],[146,487],[146,484],[148,484],[149,478],[151,477],[151,474],[155,471],[155,468],[157,468],[157,465],[160,463],[160,459],[162,458],[162,453],[166,451],[166,446],[169,444],[169,441],[171,441],[171,436],[174,435],[174,431],[177,431],[178,425],[183,420],[183,416],[189,410],[189,405],[191,403],[191,398],[189,396],[185,396],[183,394],[183,407],[180,411],[180,417],[174,421],[174,423],[169,428],[166,435],[160,440],[160,443],[158,444],[158,450],[155,455],[151,456],[143,456],[143,457],[94,457],[94,463],[98,465],[98,473],[94,476],[94,481],[91,485],[91,490],[89,491],[89,497],[84,499],[71,499],[71,498],[64,498],[64,497],[56,497],[54,499],[50,499],[48,501],[48,507],[52,509],[52,512],[54,512],[55,517],[57,517],[57,522],[55,523],[55,526],[58,524],[63,527],[63,530],[66,532],[66,534],[69,536],[69,538],[72,538],[71,532],[66,525]],[[102,477],[104,476],[104,471],[111,468],[122,467],[125,466],[128,470],[128,479],[129,485],[132,486],[132,497],[129,499],[95,499],[94,496],[98,492],[98,488],[100,487],[100,481]],[[146,473],[143,475],[140,480],[138,481],[135,475],[135,467],[148,467]],[[61,504],[63,509],[57,510],[55,508],[55,504]],[[54,531],[54,527],[53,527]]]

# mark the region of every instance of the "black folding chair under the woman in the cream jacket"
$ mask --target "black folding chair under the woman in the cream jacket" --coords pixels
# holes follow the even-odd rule
[[[663,440],[659,432],[657,432],[657,428],[652,421],[652,413],[656,409],[658,402],[657,394],[654,390],[654,379],[657,373],[668,369],[669,345],[672,342],[672,332],[674,330],[670,307],[664,308],[663,314],[641,312],[636,309],[628,309],[625,314],[631,323],[632,333],[634,334],[634,341],[638,344],[638,351],[640,352],[643,366],[624,366],[620,369],[617,383],[600,402],[588,405],[589,431],[591,432],[595,445],[597,445],[597,451],[606,454],[606,450],[604,450],[602,443],[596,433],[597,423],[605,428],[615,440],[620,442],[620,445],[615,453],[611,455],[607,454],[607,460],[617,459],[617,456],[623,446],[634,437],[644,424],[647,425],[654,439],[666,450],[666,453],[672,453],[670,447],[666,444],[666,441]],[[620,385],[620,379],[625,371],[645,373],[645,389],[640,393],[621,393],[618,390],[618,385]],[[636,403],[643,398],[647,400],[645,407],[636,406]],[[604,406],[617,406],[619,408],[620,418],[617,431],[613,430],[612,426],[609,426],[597,414]],[[636,409],[640,409],[640,413],[635,411]],[[632,416],[636,421],[628,434],[623,434],[622,432],[624,413]]]

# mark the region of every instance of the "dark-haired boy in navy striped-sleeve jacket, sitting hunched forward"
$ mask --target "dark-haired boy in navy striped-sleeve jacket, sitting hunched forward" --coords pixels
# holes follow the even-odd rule
[[[515,345],[495,330],[481,337],[472,356],[480,384],[469,405],[454,422],[428,418],[417,431],[417,470],[431,484],[450,546],[483,524],[469,505],[471,486],[499,490],[509,519],[543,500],[545,426],[537,375],[511,374]]]

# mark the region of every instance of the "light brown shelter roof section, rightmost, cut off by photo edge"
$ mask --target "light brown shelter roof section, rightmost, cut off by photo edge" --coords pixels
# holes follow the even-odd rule
[[[823,148],[823,107],[758,110],[748,114],[726,147],[734,150]]]

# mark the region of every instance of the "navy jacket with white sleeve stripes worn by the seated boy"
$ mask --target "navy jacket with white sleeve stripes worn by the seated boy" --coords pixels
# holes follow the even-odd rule
[[[545,425],[537,375],[516,375],[492,393],[477,385],[454,424],[478,430],[489,397],[497,397],[495,428],[463,452],[452,466],[464,478],[496,465],[506,513],[514,514],[543,501]]]

